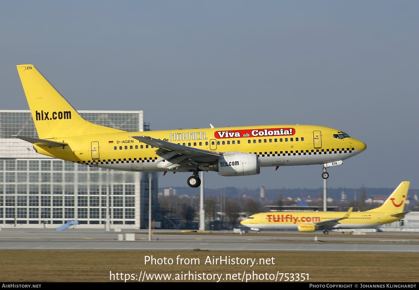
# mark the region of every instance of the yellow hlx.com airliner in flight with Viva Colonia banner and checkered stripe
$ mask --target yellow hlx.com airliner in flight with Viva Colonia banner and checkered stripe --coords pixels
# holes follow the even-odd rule
[[[326,169],[365,150],[340,130],[313,125],[262,125],[126,132],[84,120],[32,64],[17,66],[38,138],[13,136],[36,152],[75,163],[139,172],[259,174],[261,167],[323,164]]]

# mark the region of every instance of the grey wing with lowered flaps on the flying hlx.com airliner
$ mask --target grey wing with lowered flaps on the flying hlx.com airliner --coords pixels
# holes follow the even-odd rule
[[[186,165],[191,163],[207,163],[217,160],[221,154],[214,151],[202,150],[175,144],[149,136],[129,136],[147,145],[157,148],[156,154],[173,164]],[[174,165],[173,165],[174,166]],[[169,168],[169,167],[168,167]]]

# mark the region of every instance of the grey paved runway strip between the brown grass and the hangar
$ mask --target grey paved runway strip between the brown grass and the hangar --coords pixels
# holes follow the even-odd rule
[[[148,240],[147,231],[124,230],[106,232],[103,230],[67,229],[57,232],[53,229],[3,229],[0,231],[0,249],[36,250],[208,250],[208,251],[292,251],[292,252],[419,252],[419,240],[403,239],[394,234],[385,239],[383,233],[376,237],[347,237],[330,234],[313,237],[297,234],[293,237],[246,237],[192,234],[154,234]],[[134,234],[134,241],[119,240],[125,234]]]

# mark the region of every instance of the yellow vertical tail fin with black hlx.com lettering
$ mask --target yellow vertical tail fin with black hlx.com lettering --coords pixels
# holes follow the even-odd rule
[[[34,65],[16,67],[39,138],[122,132],[84,120]]]

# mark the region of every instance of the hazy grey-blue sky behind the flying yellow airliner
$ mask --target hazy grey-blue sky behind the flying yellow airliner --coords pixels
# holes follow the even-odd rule
[[[418,15],[418,1],[1,1],[0,109],[28,109],[16,65],[34,64],[75,109],[143,110],[152,130],[333,127],[367,150],[328,187],[419,188]],[[204,185],[320,188],[321,169]]]

